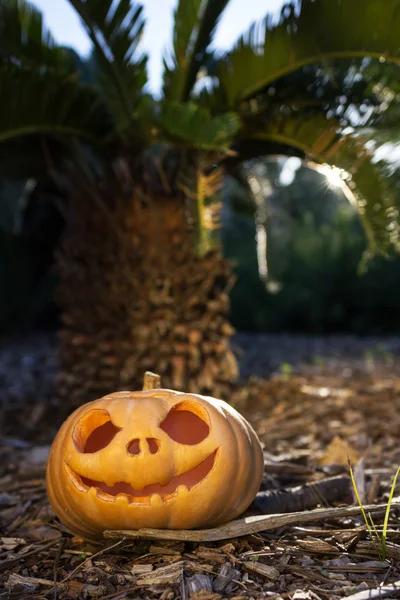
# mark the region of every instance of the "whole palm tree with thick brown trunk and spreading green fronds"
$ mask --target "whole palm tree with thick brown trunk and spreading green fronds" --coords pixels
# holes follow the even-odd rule
[[[165,385],[226,393],[237,372],[217,232],[227,170],[276,153],[334,164],[351,177],[370,252],[398,250],[396,199],[369,144],[371,127],[387,135],[382,114],[371,105],[361,118],[356,81],[346,107],[344,83],[331,85],[337,61],[399,65],[398,1],[288,0],[216,54],[228,0],[179,0],[157,101],[145,91],[142,7],[69,1],[93,44],[95,84],[37,10],[0,0],[4,165],[18,157],[20,172],[50,174],[68,197],[61,389],[74,405],[138,385],[150,368]]]

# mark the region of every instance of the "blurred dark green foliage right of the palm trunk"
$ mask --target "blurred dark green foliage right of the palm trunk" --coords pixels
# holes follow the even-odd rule
[[[232,182],[225,192],[224,251],[238,276],[231,292],[233,325],[255,332],[398,334],[400,259],[376,258],[360,275],[366,239],[343,194],[306,168],[282,186],[279,171],[277,165],[268,168],[267,199],[269,267],[277,293],[269,293],[259,277],[254,206]]]

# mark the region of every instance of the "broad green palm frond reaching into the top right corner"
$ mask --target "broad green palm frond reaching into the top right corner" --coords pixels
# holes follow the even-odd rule
[[[235,108],[307,64],[354,56],[400,63],[399,31],[398,0],[289,0],[278,20],[268,16],[239,39],[219,80]]]

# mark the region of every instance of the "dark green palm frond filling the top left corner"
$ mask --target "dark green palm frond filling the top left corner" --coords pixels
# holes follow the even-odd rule
[[[23,0],[0,0],[0,58],[62,71],[74,67],[44,26],[42,13]]]

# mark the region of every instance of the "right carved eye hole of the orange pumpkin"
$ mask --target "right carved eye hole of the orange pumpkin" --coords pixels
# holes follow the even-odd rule
[[[208,414],[202,406],[183,401],[170,410],[160,428],[174,442],[194,446],[205,440],[210,433],[208,423]]]

